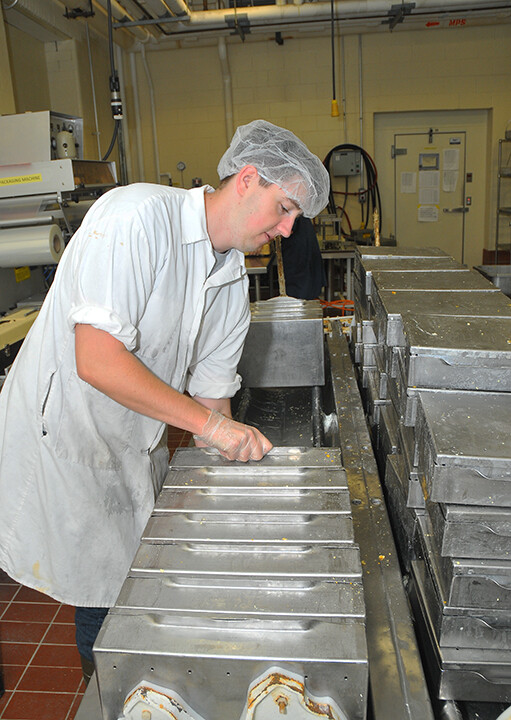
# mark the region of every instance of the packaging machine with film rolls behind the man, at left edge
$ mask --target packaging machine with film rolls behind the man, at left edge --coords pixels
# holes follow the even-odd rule
[[[14,360],[66,243],[116,185],[83,159],[83,121],[50,111],[0,117],[0,375]]]

